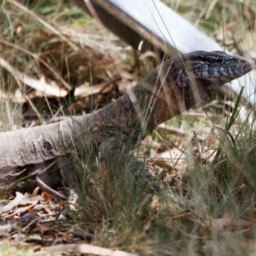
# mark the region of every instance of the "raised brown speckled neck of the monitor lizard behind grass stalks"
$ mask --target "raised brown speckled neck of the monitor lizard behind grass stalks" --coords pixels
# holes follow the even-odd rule
[[[161,70],[155,68],[125,96],[98,110],[94,123],[98,127],[99,142],[122,134],[123,138],[137,143],[157,125],[192,108],[207,95],[202,81],[195,81],[194,86],[188,80],[181,86],[178,82],[179,71],[180,67],[172,65],[172,59],[166,61]]]

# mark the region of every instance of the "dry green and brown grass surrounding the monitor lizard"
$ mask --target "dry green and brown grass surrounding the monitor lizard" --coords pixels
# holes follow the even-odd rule
[[[66,1],[58,1],[54,9],[48,1],[21,3],[35,15],[9,1],[2,3],[6,16],[1,25],[1,56],[13,67],[63,89],[65,82],[83,87],[84,83],[118,81],[105,94],[46,98],[35,96],[35,90],[19,84],[1,67],[1,90],[9,97],[15,92],[31,97],[30,102],[10,98],[0,102],[2,131],[24,125],[22,115],[33,113],[33,108],[46,121],[49,114],[89,113],[118,98],[127,80],[131,83],[120,73],[134,67],[133,50],[79,9]],[[192,10],[191,3],[166,3],[234,53],[253,51],[254,1],[196,0]],[[241,48],[236,42],[241,42]],[[131,73],[132,80],[153,66],[150,59],[140,61],[140,68]],[[158,129],[146,138],[149,146],[142,143],[134,151],[138,158],[161,166],[161,172],[145,183],[126,172],[127,166],[107,172],[95,158],[76,156],[79,209],[70,212],[63,226],[93,233],[92,244],[140,255],[254,255],[254,120],[253,108],[241,97],[235,105],[219,99],[207,108],[207,114],[200,108],[172,119],[168,124],[185,131],[185,136],[170,136]],[[32,121],[37,121],[35,116]],[[32,121],[26,119],[26,125]],[[91,152],[87,146],[84,150],[85,155]],[[6,255],[9,250],[14,255],[25,254],[13,245],[0,249]]]

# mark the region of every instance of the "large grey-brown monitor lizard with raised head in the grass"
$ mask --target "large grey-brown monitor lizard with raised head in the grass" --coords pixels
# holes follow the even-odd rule
[[[0,190],[32,191],[35,177],[55,188],[63,176],[73,175],[72,169],[65,175],[61,169],[63,160],[76,154],[100,153],[102,160],[117,157],[125,164],[123,156],[157,125],[195,107],[212,90],[252,68],[253,61],[221,51],[177,55],[95,113],[0,133]]]

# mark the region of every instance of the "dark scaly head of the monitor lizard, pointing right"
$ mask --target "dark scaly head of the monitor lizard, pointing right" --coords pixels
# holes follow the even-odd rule
[[[205,81],[208,90],[238,79],[253,68],[253,61],[222,51],[195,51],[182,55],[181,61],[184,68],[177,76],[178,86],[183,87],[186,79]]]

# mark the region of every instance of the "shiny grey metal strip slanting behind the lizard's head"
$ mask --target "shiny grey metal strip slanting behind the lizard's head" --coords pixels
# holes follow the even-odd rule
[[[90,6],[104,26],[135,48],[145,39],[168,55],[195,50],[224,50],[212,38],[199,31],[188,20],[159,0],[71,1],[89,14],[90,10],[87,6]],[[238,94],[241,86],[245,86],[243,96],[254,105],[256,102],[255,78],[256,73],[252,71],[234,80],[232,84],[226,84],[225,87]]]

